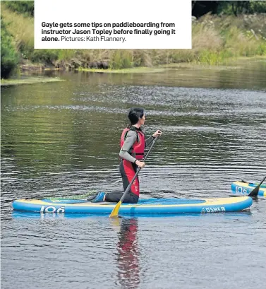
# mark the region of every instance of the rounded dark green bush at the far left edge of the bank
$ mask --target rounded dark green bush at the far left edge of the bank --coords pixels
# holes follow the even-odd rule
[[[1,78],[8,78],[17,66],[18,53],[13,45],[13,37],[1,18]]]

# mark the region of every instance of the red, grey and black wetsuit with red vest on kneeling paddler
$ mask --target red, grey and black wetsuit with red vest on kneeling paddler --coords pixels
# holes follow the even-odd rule
[[[119,165],[119,170],[123,180],[123,190],[126,188],[133,179],[135,172],[138,170],[138,165],[135,165],[136,160],[143,160],[144,149],[149,146],[153,137],[150,136],[145,140],[145,135],[141,129],[131,126],[131,129],[123,129],[121,134],[121,151],[119,156],[121,157],[121,162]],[[110,193],[106,194],[105,201],[118,202],[121,199],[123,193]],[[138,203],[138,198],[140,196],[140,184],[138,177],[131,185],[131,190],[128,191],[126,198],[123,203]]]

